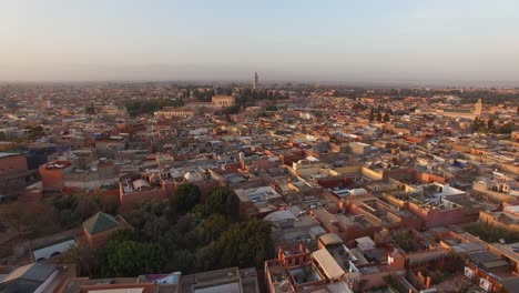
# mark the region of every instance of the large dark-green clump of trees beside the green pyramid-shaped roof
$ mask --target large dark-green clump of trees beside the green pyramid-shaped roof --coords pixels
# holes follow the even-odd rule
[[[94,252],[80,247],[69,259],[81,274],[94,277],[261,267],[273,252],[271,226],[236,222],[234,198],[232,189],[215,188],[201,204],[196,185],[180,185],[170,201],[146,202],[124,214],[133,231],[118,231],[104,246]],[[69,208],[69,201],[61,199],[57,205]]]

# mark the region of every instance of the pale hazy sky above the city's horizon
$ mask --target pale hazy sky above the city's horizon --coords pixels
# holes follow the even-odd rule
[[[519,84],[517,0],[1,0],[0,80]]]

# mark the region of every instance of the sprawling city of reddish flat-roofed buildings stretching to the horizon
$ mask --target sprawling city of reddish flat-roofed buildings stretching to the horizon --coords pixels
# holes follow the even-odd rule
[[[518,95],[1,85],[0,292],[518,292]]]

